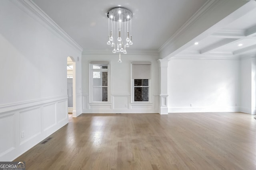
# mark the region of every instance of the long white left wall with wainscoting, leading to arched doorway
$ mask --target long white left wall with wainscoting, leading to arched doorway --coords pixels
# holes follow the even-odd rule
[[[21,1],[0,1],[0,21],[0,161],[10,161],[68,123],[67,57],[81,51]]]

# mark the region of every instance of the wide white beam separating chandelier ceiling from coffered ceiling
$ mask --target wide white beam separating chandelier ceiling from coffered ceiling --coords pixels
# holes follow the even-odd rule
[[[200,14],[190,18],[162,47],[160,58],[170,59],[184,49],[220,30],[228,23],[248,14],[256,8],[255,1],[209,0]]]

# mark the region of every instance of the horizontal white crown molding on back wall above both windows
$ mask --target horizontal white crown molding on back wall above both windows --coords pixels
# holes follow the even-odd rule
[[[112,53],[112,51],[104,51],[104,50],[95,50],[95,51],[82,51],[82,55],[117,55]],[[154,55],[159,56],[157,50],[129,50],[127,54],[121,55]]]

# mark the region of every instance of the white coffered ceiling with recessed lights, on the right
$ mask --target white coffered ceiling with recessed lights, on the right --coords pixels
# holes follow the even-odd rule
[[[233,17],[232,14],[228,17]],[[242,46],[239,46],[242,44]],[[174,58],[240,59],[256,56],[256,9],[247,11],[236,20],[204,37]]]

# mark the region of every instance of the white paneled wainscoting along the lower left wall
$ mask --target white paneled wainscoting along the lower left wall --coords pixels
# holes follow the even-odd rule
[[[12,161],[68,123],[68,98],[0,106],[0,161]]]

